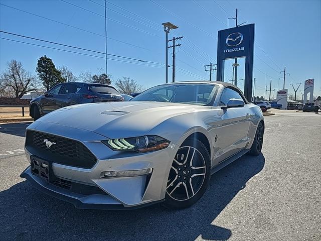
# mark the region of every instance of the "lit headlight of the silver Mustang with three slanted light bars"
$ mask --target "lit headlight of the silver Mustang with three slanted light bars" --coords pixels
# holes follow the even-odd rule
[[[158,136],[130,137],[102,141],[114,151],[151,152],[167,148],[170,141]]]

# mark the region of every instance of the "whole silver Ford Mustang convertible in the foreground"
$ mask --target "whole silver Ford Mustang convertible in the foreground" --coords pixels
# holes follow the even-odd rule
[[[197,202],[211,174],[259,155],[264,118],[234,85],[190,81],[152,87],[129,102],[73,105],[27,128],[21,174],[77,208]]]

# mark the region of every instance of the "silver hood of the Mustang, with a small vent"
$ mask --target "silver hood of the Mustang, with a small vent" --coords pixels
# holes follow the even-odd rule
[[[90,103],[58,109],[38,121],[89,130],[111,139],[125,138],[146,135],[168,118],[204,107],[149,101]]]

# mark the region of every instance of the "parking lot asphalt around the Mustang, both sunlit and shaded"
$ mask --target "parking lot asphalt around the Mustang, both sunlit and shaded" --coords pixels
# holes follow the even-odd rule
[[[320,240],[321,114],[265,117],[262,155],[211,177],[184,210],[80,210],[19,177],[28,124],[0,125],[0,240]]]

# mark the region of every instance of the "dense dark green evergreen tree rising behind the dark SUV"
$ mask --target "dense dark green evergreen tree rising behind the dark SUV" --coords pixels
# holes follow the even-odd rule
[[[56,69],[51,58],[48,58],[46,55],[38,59],[36,72],[38,73],[38,78],[42,81],[47,91],[56,84],[66,81],[62,78],[61,72]]]

